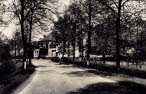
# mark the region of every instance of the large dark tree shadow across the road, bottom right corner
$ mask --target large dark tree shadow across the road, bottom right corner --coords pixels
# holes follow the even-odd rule
[[[129,81],[96,83],[68,94],[146,94],[146,86]]]

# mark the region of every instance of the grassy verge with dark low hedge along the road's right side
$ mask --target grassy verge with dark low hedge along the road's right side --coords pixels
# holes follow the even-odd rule
[[[132,81],[146,85],[146,70],[136,68],[122,67],[117,71],[113,65],[97,63],[86,66],[86,62],[64,62],[63,64],[73,64],[75,67],[84,68],[87,72],[93,73],[102,77],[111,78],[117,81]]]

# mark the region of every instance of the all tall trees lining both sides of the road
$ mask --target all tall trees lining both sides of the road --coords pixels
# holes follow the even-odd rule
[[[63,56],[73,47],[73,60],[78,45],[80,52],[86,50],[87,65],[90,54],[113,55],[117,69],[129,49],[135,49],[138,56],[144,56],[145,8],[135,7],[144,1],[133,0],[73,0],[62,16],[58,15],[58,0],[13,0],[4,12],[13,13],[19,25],[18,32],[10,41],[15,53],[23,48],[23,64],[29,57],[31,65],[32,35],[40,28],[45,31],[49,21],[54,22],[53,32],[58,42],[63,43]],[[1,20],[1,22],[3,22]],[[47,23],[46,23],[47,22]],[[105,60],[105,59],[103,59]],[[105,61],[104,61],[105,62]]]

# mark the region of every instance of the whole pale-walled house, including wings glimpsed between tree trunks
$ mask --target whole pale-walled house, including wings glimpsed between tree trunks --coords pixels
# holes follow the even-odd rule
[[[42,40],[33,43],[33,57],[37,58],[50,58],[50,57],[61,57],[63,54],[63,43],[58,43],[56,38],[53,36],[53,33],[50,33],[48,36],[45,36]],[[65,48],[64,57],[73,57],[73,47],[70,45]],[[85,51],[81,53],[79,47],[76,45],[75,57],[80,57],[81,54],[84,54]]]

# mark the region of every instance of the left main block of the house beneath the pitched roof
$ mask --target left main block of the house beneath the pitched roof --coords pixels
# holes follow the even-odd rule
[[[44,37],[42,40],[33,43],[34,58],[49,58],[58,56],[58,46],[56,39],[52,33]]]

